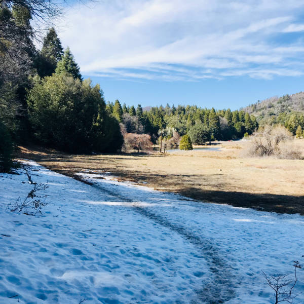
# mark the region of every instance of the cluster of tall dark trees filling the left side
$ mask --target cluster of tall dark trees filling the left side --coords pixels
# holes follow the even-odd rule
[[[11,167],[18,144],[35,142],[70,153],[117,151],[123,144],[102,90],[83,81],[54,27],[41,50],[34,46],[30,20],[45,24],[59,14],[52,0],[0,3],[0,170]]]

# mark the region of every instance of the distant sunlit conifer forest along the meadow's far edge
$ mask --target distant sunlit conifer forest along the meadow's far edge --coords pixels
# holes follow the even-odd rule
[[[136,108],[127,107],[119,100],[108,102],[106,109],[128,132],[150,134],[154,142],[158,138],[170,139],[174,132],[180,136],[188,134],[193,143],[229,140],[243,137],[246,132],[252,134],[258,128],[254,116],[239,110],[206,109],[195,105],[170,107],[168,104],[143,110],[140,104]]]

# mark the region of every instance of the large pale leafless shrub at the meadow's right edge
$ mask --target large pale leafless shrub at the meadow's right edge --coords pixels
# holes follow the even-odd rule
[[[246,154],[250,157],[300,159],[299,150],[286,146],[292,139],[292,134],[286,128],[266,125],[251,136]]]

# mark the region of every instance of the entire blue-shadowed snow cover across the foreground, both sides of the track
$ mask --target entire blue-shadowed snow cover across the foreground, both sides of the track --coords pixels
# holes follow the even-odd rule
[[[6,210],[33,185],[23,169],[0,173],[0,303],[274,303],[262,271],[304,262],[302,216],[27,165],[49,204],[40,217]]]

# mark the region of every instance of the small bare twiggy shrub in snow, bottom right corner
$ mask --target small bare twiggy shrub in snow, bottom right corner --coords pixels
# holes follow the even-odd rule
[[[269,287],[274,290],[275,304],[286,302],[293,303],[293,300],[299,295],[294,293],[294,286],[297,282],[296,270],[302,268],[298,261],[293,261],[294,279],[288,279],[289,275],[268,276],[264,272],[263,275]]]

